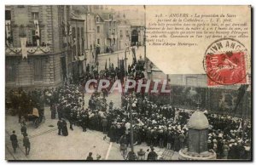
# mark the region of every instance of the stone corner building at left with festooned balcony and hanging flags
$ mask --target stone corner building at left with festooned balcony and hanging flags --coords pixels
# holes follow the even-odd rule
[[[67,77],[69,6],[5,7],[6,88],[59,86]]]

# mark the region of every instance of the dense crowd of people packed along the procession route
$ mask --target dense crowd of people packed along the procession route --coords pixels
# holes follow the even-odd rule
[[[143,78],[143,65],[143,60],[129,65],[128,78],[135,80]],[[50,106],[51,118],[55,119],[55,115],[58,114],[59,135],[68,135],[68,121],[71,130],[76,126],[83,132],[86,132],[87,128],[102,131],[111,142],[126,147],[131,145],[131,127],[134,134],[132,145],[146,143],[151,146],[152,151],[154,147],[173,151],[187,147],[189,142],[187,122],[193,113],[191,110],[178,109],[173,105],[159,105],[148,100],[144,94],[135,93],[122,94],[122,104],[116,107],[113,101],[107,102],[108,89],[91,94],[90,100],[86,100],[89,106],[84,106],[86,81],[90,78],[108,78],[114,81],[116,78],[122,78],[122,75],[121,70],[114,69],[113,66],[104,71],[90,70],[89,67],[79,86],[66,83],[59,88],[44,90],[44,94],[37,90],[28,94],[22,92],[19,94],[23,101],[31,100],[29,101],[31,106],[38,105],[38,109],[42,109],[41,105],[44,105],[41,98],[44,96],[45,104]],[[15,102],[14,98],[12,100]],[[27,110],[20,106],[21,110]],[[215,151],[218,159],[250,159],[250,123],[241,118],[210,114],[207,111],[205,114],[210,123],[208,149]],[[90,156],[89,160],[91,160]],[[156,157],[149,156],[148,160]]]

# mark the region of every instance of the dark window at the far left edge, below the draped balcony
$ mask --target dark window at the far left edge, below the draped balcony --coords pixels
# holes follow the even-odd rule
[[[16,64],[15,60],[6,60],[5,79],[6,82],[15,82]]]

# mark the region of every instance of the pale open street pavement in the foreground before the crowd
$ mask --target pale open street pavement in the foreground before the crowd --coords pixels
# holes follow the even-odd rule
[[[85,107],[88,106],[89,94],[85,94]],[[120,106],[121,97],[119,94],[109,94],[107,103],[113,100],[113,107]],[[119,151],[119,144],[110,143],[109,138],[103,139],[105,134],[99,131],[87,130],[83,132],[81,127],[73,127],[74,130],[68,129],[68,136],[60,136],[57,134],[57,119],[50,119],[49,107],[45,107],[44,115],[46,120],[41,123],[38,128],[34,128],[31,122],[26,122],[27,133],[31,141],[30,155],[25,156],[25,148],[23,147],[20,134],[20,123],[18,117],[6,115],[6,159],[7,160],[85,160],[89,152],[100,155],[100,160],[124,160]],[[68,123],[69,128],[69,123]],[[9,135],[15,130],[19,139],[19,148],[14,153],[9,139]],[[149,146],[146,144],[135,145],[134,151],[147,151]],[[131,151],[129,148],[128,151]],[[155,151],[160,155],[165,149],[155,147]],[[146,152],[147,153],[147,152]],[[173,159],[177,159],[175,152]]]

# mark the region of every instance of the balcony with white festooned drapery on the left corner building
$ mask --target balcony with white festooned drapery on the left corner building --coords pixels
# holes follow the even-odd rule
[[[8,56],[19,56],[22,53],[21,48],[5,47],[5,54]],[[27,55],[44,55],[50,53],[49,46],[26,47]]]

